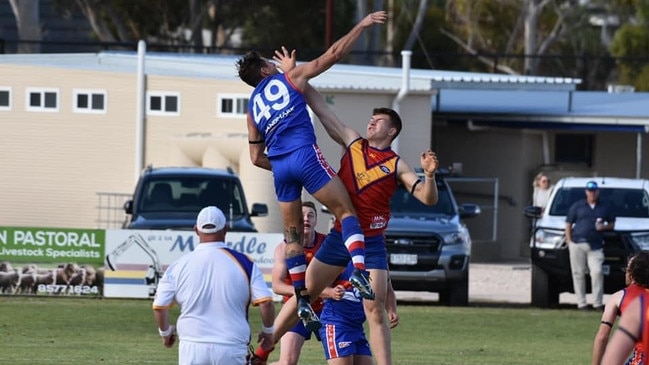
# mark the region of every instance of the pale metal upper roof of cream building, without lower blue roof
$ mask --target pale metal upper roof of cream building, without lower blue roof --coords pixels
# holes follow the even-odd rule
[[[239,57],[239,55],[147,53],[145,69],[149,75],[238,80],[234,64]],[[0,55],[0,64],[135,73],[137,53],[106,51],[71,54],[6,54]],[[314,78],[311,83],[318,89],[397,92],[402,86],[402,75],[403,70],[398,67],[336,64],[327,72]],[[579,79],[559,77],[412,69],[409,86],[411,92],[432,92],[439,88],[574,90],[580,82]]]

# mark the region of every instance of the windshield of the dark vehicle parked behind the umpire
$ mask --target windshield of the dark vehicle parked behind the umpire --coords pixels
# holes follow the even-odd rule
[[[245,201],[241,186],[233,179],[201,176],[156,176],[145,182],[140,213],[198,213],[215,205],[226,216],[241,216]]]

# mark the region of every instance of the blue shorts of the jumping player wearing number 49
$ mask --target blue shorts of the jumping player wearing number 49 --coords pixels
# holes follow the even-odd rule
[[[275,194],[281,202],[302,197],[304,187],[313,194],[336,175],[317,145],[300,147],[285,155],[270,158],[275,182]]]

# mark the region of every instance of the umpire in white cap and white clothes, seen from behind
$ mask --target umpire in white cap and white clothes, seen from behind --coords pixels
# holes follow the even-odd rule
[[[169,265],[158,285],[153,313],[164,346],[173,346],[177,331],[180,365],[245,364],[250,304],[261,312],[259,339],[272,341],[272,293],[257,265],[225,245],[225,223],[219,208],[203,208],[194,227],[200,244]],[[174,302],[180,306],[177,328],[169,323]]]

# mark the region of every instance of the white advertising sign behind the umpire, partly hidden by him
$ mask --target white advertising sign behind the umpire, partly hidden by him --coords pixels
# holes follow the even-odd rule
[[[279,233],[239,233],[226,236],[226,244],[248,255],[270,286]],[[164,270],[199,244],[193,231],[106,230],[104,296],[152,298]]]

